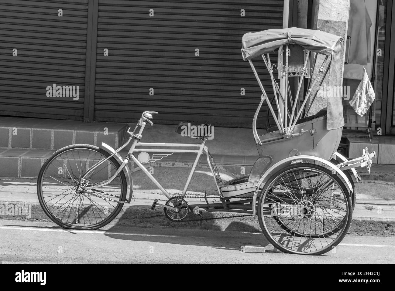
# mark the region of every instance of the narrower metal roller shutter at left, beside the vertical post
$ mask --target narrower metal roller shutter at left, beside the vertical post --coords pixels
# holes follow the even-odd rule
[[[82,120],[87,2],[1,1],[0,114]],[[47,97],[54,83],[79,86],[79,99]]]

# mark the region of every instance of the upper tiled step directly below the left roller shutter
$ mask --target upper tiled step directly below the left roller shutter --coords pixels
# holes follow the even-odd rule
[[[101,145],[117,149],[126,124],[83,123],[74,120],[0,117],[0,147],[9,149],[60,149],[70,144]]]

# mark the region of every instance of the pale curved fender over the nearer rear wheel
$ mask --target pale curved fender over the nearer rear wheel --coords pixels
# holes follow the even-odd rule
[[[348,180],[347,176],[342,172],[342,170],[340,170],[335,164],[333,164],[331,162],[328,162],[327,160],[324,160],[322,158],[314,157],[314,156],[301,155],[301,156],[289,157],[289,158],[286,158],[284,160],[280,160],[279,162],[277,162],[276,164],[271,166],[262,175],[261,179],[259,180],[258,186],[256,187],[255,192],[254,192],[254,197],[252,198],[252,207],[253,207],[252,208],[253,209],[252,212],[254,214],[254,219],[256,218],[255,204],[256,204],[256,198],[258,197],[259,189],[267,182],[267,180],[269,180],[269,178],[270,178],[269,175],[273,175],[275,172],[277,172],[281,168],[284,168],[285,166],[288,166],[290,164],[290,162],[292,162],[293,160],[300,160],[300,159],[303,159],[303,160],[316,160],[318,162],[322,162],[323,164],[326,164],[327,166],[332,168],[335,172],[337,172],[344,179],[344,181],[346,181],[350,193],[353,192],[351,182]]]

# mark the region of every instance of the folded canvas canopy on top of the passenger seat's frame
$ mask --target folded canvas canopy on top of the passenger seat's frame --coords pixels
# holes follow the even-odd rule
[[[342,37],[297,27],[268,29],[260,32],[247,32],[241,39],[243,60],[251,60],[266,54],[281,45],[297,44],[305,49],[327,56],[340,51]]]

